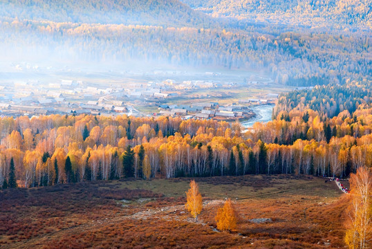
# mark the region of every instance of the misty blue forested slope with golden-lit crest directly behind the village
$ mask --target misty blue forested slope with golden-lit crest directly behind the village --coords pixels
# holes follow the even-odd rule
[[[275,82],[314,86],[372,75],[369,37],[282,33],[279,36],[218,29],[164,28],[51,21],[0,23],[1,55],[53,56],[104,62],[142,59],[187,66],[265,71]],[[42,44],[42,46],[40,46]],[[84,49],[82,47],[84,46]],[[330,73],[332,72],[332,73]]]

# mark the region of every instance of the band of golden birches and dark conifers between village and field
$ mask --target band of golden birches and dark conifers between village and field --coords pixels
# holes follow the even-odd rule
[[[169,117],[4,117],[0,184],[12,174],[22,187],[123,177],[346,177],[372,165],[371,100],[369,85],[355,82],[286,93],[272,121],[246,132],[238,122]]]

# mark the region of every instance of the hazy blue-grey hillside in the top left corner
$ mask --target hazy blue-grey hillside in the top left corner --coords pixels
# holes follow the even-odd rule
[[[5,0],[0,16],[88,24],[203,27],[212,22],[178,0]]]

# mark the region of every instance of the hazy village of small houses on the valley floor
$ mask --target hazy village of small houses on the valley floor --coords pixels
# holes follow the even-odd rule
[[[203,80],[182,82],[158,80],[125,84],[92,84],[82,80],[55,80],[53,83],[38,80],[1,82],[0,111],[2,116],[15,118],[51,114],[101,116],[127,114],[232,121],[248,120],[255,116],[250,107],[274,104],[278,96],[276,93],[269,93],[261,96],[262,98],[245,98],[230,104],[218,104],[218,100],[224,97],[221,93],[212,96],[200,94],[203,89],[231,87],[234,87],[234,84]],[[207,101],[201,102],[203,99]],[[179,104],[179,100],[184,102],[190,100],[188,103],[193,104]]]

